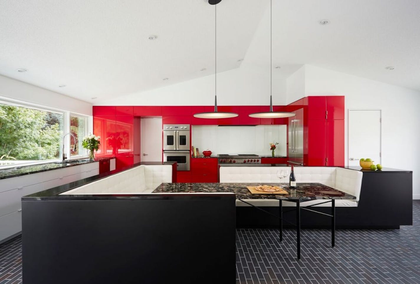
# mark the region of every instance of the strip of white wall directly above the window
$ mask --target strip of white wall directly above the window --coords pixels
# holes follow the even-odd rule
[[[1,75],[0,96],[92,115],[92,104]]]

